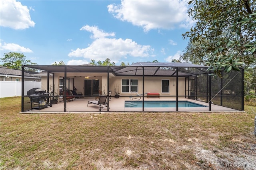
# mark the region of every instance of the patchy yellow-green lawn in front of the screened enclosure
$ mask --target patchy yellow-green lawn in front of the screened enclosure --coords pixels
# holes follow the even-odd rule
[[[224,166],[202,150],[224,164],[241,154],[256,159],[254,106],[234,113],[20,114],[20,100],[0,99],[1,169]]]

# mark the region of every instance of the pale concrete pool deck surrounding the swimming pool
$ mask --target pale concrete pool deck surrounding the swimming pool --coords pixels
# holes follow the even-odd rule
[[[66,112],[100,112],[99,106],[94,104],[89,104],[87,106],[88,101],[95,100],[94,97],[84,97],[84,98],[78,98],[74,101],[67,102],[66,103]],[[142,101],[142,98],[140,100],[133,99],[131,100],[130,97],[120,97],[120,98],[114,98],[109,101],[109,111],[110,112],[138,112],[143,111],[142,107],[124,107],[124,101]],[[176,101],[176,98],[147,98],[144,97],[144,101]],[[179,107],[178,111],[194,111],[194,112],[202,112],[202,111],[209,111],[208,104],[202,101],[197,100],[191,100],[187,98],[180,98],[179,101],[189,101],[194,102],[197,104],[205,105],[207,107]],[[230,109],[228,107],[222,107],[218,105],[212,104],[211,107],[212,111],[238,111],[236,109]],[[106,112],[107,107],[102,108],[101,112]],[[169,111],[176,111],[176,107],[144,107],[144,111],[146,112],[169,112]],[[52,105],[52,107],[46,107],[44,109],[33,109],[30,111],[26,111],[24,113],[37,113],[37,112],[64,112],[64,102],[58,102],[58,104]],[[65,112],[64,112],[65,113]]]

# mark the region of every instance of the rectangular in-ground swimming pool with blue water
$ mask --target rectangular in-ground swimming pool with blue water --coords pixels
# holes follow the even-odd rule
[[[142,101],[124,101],[124,107],[142,107]],[[144,101],[144,107],[176,107],[176,101]],[[208,107],[188,101],[178,101],[178,107]]]

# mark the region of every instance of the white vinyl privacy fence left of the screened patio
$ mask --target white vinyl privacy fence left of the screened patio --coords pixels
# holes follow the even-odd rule
[[[41,88],[41,82],[24,82],[24,95],[32,88]],[[21,82],[0,81],[0,98],[21,96]]]

